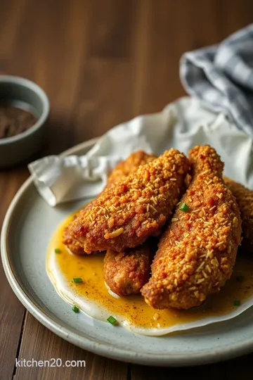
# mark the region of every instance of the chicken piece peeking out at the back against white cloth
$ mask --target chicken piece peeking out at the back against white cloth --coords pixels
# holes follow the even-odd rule
[[[150,163],[151,161],[157,158],[153,154],[145,153],[144,151],[136,151],[132,153],[126,160],[118,163],[115,168],[112,170],[111,174],[108,177],[107,186],[115,184],[115,182],[122,181],[128,175],[131,175],[136,172],[139,166]]]

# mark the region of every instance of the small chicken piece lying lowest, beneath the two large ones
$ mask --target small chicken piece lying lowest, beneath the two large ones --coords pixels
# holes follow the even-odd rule
[[[120,253],[108,249],[104,258],[103,276],[111,291],[118,296],[139,293],[150,277],[154,253],[152,239]]]

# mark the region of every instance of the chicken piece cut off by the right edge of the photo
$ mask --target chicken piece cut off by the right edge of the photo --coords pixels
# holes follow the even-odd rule
[[[223,177],[226,186],[235,196],[242,219],[242,249],[253,252],[253,191],[230,178]]]

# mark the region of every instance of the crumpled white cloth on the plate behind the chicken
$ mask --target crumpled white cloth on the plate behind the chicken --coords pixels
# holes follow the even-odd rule
[[[85,156],[48,156],[28,167],[39,194],[56,206],[99,194],[112,167],[138,149],[160,155],[173,146],[188,154],[197,144],[214,146],[224,173],[253,189],[252,139],[225,115],[190,97],[110,129]]]

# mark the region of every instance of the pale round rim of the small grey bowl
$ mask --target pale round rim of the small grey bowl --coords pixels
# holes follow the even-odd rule
[[[39,96],[39,98],[42,101],[43,110],[42,110],[41,116],[39,117],[37,122],[35,122],[34,125],[32,125],[32,127],[30,127],[24,132],[16,134],[15,136],[0,139],[0,146],[25,139],[26,137],[29,137],[31,134],[36,132],[46,122],[46,119],[48,118],[49,110],[50,110],[50,102],[49,102],[48,96],[46,95],[46,92],[44,91],[44,89],[39,87],[39,85],[36,84],[35,82],[32,82],[31,80],[28,80],[27,78],[24,78],[24,77],[16,77],[15,75],[0,75],[0,86],[2,83],[13,83],[20,87],[27,87],[28,89],[36,92],[36,94]]]

